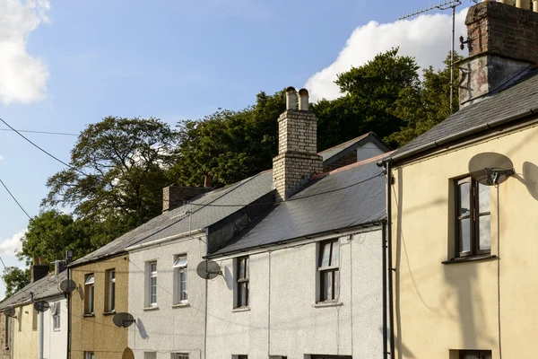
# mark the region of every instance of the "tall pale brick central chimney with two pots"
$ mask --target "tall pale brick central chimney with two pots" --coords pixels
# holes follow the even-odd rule
[[[295,89],[292,93],[296,96]],[[288,199],[311,175],[323,171],[323,158],[317,155],[317,117],[308,111],[308,91],[302,89],[299,95],[299,110],[287,106],[278,118],[278,155],[273,158],[278,201]]]

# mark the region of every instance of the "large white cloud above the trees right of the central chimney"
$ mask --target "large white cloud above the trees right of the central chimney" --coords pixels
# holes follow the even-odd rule
[[[467,9],[456,14],[456,41],[466,34],[466,14]],[[305,87],[310,92],[310,101],[333,100],[341,96],[334,83],[336,74],[348,71],[351,66],[366,64],[378,53],[391,48],[399,47],[399,55],[415,57],[421,67],[440,68],[450,50],[451,39],[452,16],[445,13],[422,15],[404,22],[369,22],[351,33],[333,64],[308,79]]]

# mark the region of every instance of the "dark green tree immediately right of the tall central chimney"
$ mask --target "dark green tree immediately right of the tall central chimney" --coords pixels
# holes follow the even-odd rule
[[[319,118],[318,149],[369,131],[385,137],[399,130],[404,121],[395,115],[395,103],[402,89],[418,86],[418,69],[413,57],[399,56],[398,48],[393,48],[363,66],[339,74],[336,84],[345,93],[343,97],[312,106]]]

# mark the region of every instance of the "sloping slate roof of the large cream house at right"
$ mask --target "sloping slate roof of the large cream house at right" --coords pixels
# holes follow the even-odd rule
[[[474,127],[488,124],[495,120],[528,112],[538,106],[538,68],[529,68],[519,78],[506,83],[493,92],[490,97],[464,107],[445,119],[436,127],[418,136],[409,144],[398,149],[392,157],[417,151],[422,146],[455,136]],[[415,153],[416,154],[416,153]]]

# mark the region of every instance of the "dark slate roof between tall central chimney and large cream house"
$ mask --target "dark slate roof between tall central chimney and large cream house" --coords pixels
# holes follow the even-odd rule
[[[388,154],[315,176],[209,257],[381,221],[386,218],[386,184],[376,162]]]

